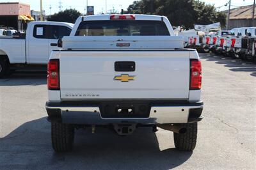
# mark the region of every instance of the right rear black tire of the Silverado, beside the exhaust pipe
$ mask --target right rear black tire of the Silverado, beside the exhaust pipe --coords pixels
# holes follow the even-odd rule
[[[196,147],[197,122],[182,124],[187,129],[185,134],[173,132],[175,148],[180,151],[193,151]]]

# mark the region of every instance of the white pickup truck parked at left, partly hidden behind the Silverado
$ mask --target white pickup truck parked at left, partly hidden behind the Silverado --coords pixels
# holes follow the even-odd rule
[[[58,39],[70,35],[74,24],[29,22],[26,35],[0,36],[0,78],[24,66],[47,65]]]

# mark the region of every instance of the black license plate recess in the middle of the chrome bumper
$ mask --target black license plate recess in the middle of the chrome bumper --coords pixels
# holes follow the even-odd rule
[[[143,103],[102,104],[100,114],[102,118],[148,118],[150,105]]]

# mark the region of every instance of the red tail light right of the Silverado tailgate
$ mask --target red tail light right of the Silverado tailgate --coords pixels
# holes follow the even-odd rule
[[[201,89],[202,66],[198,59],[190,60],[190,89]]]

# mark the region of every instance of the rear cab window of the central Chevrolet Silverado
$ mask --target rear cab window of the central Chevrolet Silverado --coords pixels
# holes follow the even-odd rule
[[[170,36],[159,20],[91,20],[79,24],[76,36]]]

